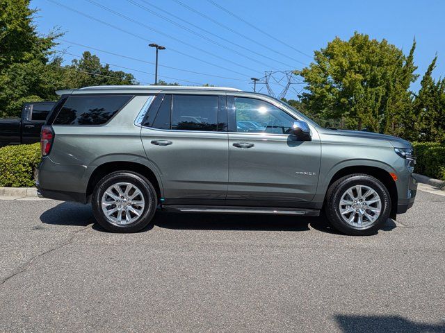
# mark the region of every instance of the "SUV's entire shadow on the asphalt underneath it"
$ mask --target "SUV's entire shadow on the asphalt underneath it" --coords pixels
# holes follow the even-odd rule
[[[40,215],[42,223],[50,225],[93,224],[92,228],[106,232],[92,215],[91,205],[64,202],[52,207]],[[256,231],[308,231],[309,226],[315,230],[329,234],[340,234],[334,230],[324,216],[304,217],[285,215],[259,214],[213,214],[213,213],[175,213],[158,211],[153,223],[141,230],[146,232],[153,228],[177,230],[256,230]],[[390,231],[396,223],[389,219],[381,230]]]

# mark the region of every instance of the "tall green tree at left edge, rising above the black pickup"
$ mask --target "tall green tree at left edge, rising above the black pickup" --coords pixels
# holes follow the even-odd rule
[[[26,101],[54,98],[57,81],[47,62],[57,33],[40,36],[29,0],[0,0],[0,114],[18,115]]]

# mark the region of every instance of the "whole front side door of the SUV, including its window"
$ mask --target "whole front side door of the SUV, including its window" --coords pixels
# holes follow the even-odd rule
[[[321,159],[316,131],[312,141],[300,141],[288,134],[296,118],[268,101],[227,96],[227,103],[227,200],[282,207],[311,201]]]

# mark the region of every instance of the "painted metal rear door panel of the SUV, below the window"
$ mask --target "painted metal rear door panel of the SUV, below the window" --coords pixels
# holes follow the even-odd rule
[[[140,135],[148,160],[161,173],[165,198],[225,199],[227,133],[143,128]],[[154,141],[171,144],[152,144]]]

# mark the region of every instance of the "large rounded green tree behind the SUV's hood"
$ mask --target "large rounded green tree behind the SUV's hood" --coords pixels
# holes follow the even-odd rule
[[[296,71],[307,83],[302,103],[316,119],[344,119],[348,128],[402,133],[404,114],[412,112],[415,45],[404,56],[387,40],[359,33],[348,41],[336,37],[315,51],[315,62]]]

